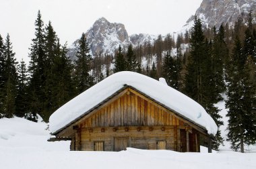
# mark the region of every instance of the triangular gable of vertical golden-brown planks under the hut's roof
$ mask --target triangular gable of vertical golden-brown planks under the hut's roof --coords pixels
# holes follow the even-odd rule
[[[106,105],[80,127],[179,125],[179,119],[141,97],[129,93]]]

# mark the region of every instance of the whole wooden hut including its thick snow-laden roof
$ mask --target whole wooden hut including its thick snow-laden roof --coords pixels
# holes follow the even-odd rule
[[[53,113],[50,129],[53,140],[71,140],[70,150],[200,152],[199,135],[215,134],[216,124],[198,103],[166,84],[119,72]]]

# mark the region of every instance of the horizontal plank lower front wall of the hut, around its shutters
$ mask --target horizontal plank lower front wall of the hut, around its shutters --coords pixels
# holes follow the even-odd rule
[[[152,131],[149,127],[94,127],[93,129],[82,128],[81,142],[77,150],[95,150],[95,142],[104,142],[104,151],[118,151],[117,138],[127,138],[128,146],[131,148],[156,150],[162,148],[158,146],[159,142],[164,142],[166,150],[175,150],[174,145],[174,127],[166,126],[162,131],[162,126],[155,126]]]

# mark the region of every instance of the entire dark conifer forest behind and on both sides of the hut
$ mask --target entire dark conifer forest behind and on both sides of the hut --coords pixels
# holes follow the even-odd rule
[[[216,103],[225,99],[228,141],[244,152],[256,144],[256,25],[250,12],[234,25],[204,27],[198,17],[185,34],[159,35],[143,45],[115,49],[115,54],[92,56],[86,34],[78,42],[75,60],[67,55],[54,23],[44,23],[38,11],[34,38],[28,46],[29,64],[17,62],[11,35],[0,35],[0,118],[13,116],[47,123],[63,104],[110,74],[133,71],[167,84],[197,101],[218,127],[223,125]],[[187,46],[187,48],[181,48]],[[172,51],[176,50],[173,55]],[[146,64],[142,61],[146,60]],[[223,144],[220,131],[213,148]]]

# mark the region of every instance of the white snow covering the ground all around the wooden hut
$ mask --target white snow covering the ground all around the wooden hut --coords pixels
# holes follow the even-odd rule
[[[222,109],[226,138],[226,109]],[[220,152],[179,153],[169,150],[137,150],[121,152],[69,152],[69,142],[47,142],[46,123],[34,123],[14,117],[0,119],[0,168],[256,168],[256,148],[247,148],[241,154],[230,150],[225,142]]]

